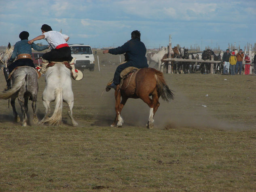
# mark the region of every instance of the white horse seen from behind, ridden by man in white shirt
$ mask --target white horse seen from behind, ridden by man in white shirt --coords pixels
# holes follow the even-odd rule
[[[58,126],[61,122],[62,104],[64,101],[68,104],[68,115],[72,121],[72,125],[77,125],[72,115],[74,94],[70,76],[70,70],[62,63],[55,63],[54,66],[47,68],[45,73],[46,86],[42,93],[45,115],[39,123],[48,122],[50,125]],[[55,110],[53,115],[48,117],[51,111],[50,103],[52,101],[55,101]]]

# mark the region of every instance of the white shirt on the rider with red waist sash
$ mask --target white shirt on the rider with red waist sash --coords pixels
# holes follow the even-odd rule
[[[65,44],[66,38],[68,38],[67,35],[61,34],[60,32],[57,31],[49,31],[45,32],[44,34],[44,39],[50,44],[51,49],[55,49],[56,46],[60,44]]]

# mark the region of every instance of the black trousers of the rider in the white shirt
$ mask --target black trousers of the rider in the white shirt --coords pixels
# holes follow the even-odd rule
[[[47,61],[71,61],[73,57],[71,56],[71,49],[69,46],[62,47],[60,49],[52,49],[51,51],[44,53],[43,59]]]

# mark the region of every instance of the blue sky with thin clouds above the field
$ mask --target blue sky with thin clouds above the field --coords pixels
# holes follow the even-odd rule
[[[68,43],[121,46],[139,30],[147,48],[203,45],[226,49],[228,42],[256,42],[256,0],[0,0],[0,46],[41,34],[46,23]],[[45,40],[40,40],[47,44]]]

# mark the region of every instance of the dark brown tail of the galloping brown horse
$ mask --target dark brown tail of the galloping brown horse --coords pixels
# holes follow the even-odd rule
[[[169,102],[174,99],[174,95],[169,89],[168,85],[165,83],[163,78],[163,73],[158,71],[155,73],[155,78],[157,80],[157,93],[163,98],[163,100]]]

